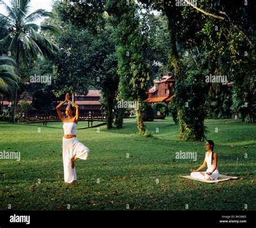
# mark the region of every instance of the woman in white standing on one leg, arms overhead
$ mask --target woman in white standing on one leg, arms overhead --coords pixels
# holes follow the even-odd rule
[[[66,116],[62,115],[60,107],[68,102],[66,107]],[[76,114],[73,106],[76,108]],[[63,166],[64,166],[64,180],[66,183],[76,183],[77,174],[75,168],[75,161],[77,159],[86,160],[90,152],[82,143],[79,143],[76,137],[76,127],[79,119],[79,107],[69,99],[69,94],[66,94],[65,101],[56,107],[59,118],[63,122],[64,136],[63,136]]]

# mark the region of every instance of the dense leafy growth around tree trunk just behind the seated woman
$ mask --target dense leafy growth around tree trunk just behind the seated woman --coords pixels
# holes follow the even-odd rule
[[[207,133],[204,125],[206,118],[207,85],[205,73],[190,70],[187,79],[179,82],[176,89],[175,104],[178,107],[180,139],[205,140]]]

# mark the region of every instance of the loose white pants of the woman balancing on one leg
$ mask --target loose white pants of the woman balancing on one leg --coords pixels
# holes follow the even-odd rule
[[[89,155],[89,148],[84,144],[79,143],[77,137],[71,139],[63,138],[63,166],[64,166],[64,181],[71,183],[77,180],[76,168],[72,169],[71,158],[77,157],[83,160],[87,159]]]

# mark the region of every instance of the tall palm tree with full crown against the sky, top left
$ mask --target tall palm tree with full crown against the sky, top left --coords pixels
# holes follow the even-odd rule
[[[29,3],[30,0],[22,0],[19,1],[19,5],[12,5],[11,7],[4,3],[8,16],[6,17],[0,13],[0,17],[5,20],[10,31],[5,38],[0,40],[0,44],[7,45],[12,56],[15,56],[18,76],[20,60],[24,67],[28,67],[29,58],[35,61],[38,58],[52,58],[59,53],[58,47],[42,34],[42,31],[46,30],[58,34],[59,29],[51,25],[39,26],[32,23],[36,19],[53,17],[53,15],[43,9],[29,13]],[[15,119],[16,104],[17,89],[12,112],[13,120]]]

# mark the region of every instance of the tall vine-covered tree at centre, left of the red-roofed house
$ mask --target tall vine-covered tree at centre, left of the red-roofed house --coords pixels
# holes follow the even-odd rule
[[[139,133],[144,134],[146,91],[151,84],[148,27],[144,18],[140,18],[142,15],[139,15],[138,5],[134,2],[109,1],[106,9],[116,30],[120,98],[139,103],[137,124]]]

